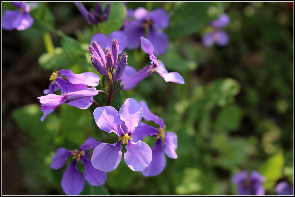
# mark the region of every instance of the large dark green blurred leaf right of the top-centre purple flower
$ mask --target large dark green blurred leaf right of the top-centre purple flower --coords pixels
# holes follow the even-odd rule
[[[210,2],[177,2],[166,33],[169,39],[176,39],[199,31],[209,22],[207,9]]]

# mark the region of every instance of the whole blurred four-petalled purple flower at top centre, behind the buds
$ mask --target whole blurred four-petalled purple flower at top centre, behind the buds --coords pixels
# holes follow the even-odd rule
[[[130,16],[132,13],[130,11]],[[128,49],[136,49],[140,45],[140,37],[145,36],[148,29],[147,39],[155,47],[155,54],[164,54],[168,49],[168,37],[163,32],[169,25],[169,15],[162,8],[148,12],[145,8],[137,8],[133,12],[134,20],[125,22],[124,33],[128,40]]]

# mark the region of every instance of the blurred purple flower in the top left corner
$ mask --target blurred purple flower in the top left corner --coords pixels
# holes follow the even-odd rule
[[[6,10],[2,16],[2,29],[18,31],[30,28],[34,19],[29,14],[30,6],[26,2],[11,2],[18,10]]]

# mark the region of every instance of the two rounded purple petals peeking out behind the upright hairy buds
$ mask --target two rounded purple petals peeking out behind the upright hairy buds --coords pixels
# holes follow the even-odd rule
[[[112,41],[114,39],[116,39],[119,43],[119,54],[121,54],[127,46],[127,37],[125,36],[123,31],[120,30],[112,32],[109,37],[101,33],[94,34],[94,36],[91,37],[90,44],[95,41],[103,49],[106,49],[107,47],[111,48]]]

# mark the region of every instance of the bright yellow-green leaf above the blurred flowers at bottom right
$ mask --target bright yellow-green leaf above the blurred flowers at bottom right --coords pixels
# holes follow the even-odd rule
[[[269,158],[260,166],[259,172],[265,176],[266,182],[263,183],[266,189],[273,188],[276,181],[281,178],[284,167],[284,156],[281,151]]]

